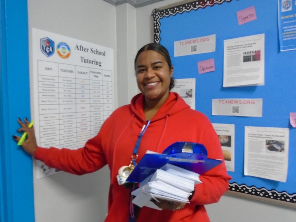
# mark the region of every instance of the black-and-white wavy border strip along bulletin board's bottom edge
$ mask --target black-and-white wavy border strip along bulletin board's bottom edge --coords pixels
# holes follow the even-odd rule
[[[296,203],[296,193],[288,194],[286,191],[278,192],[275,189],[267,190],[264,187],[257,188],[255,186],[239,185],[237,183],[229,183],[229,190],[243,194],[251,194],[258,197],[266,197],[272,200],[280,200],[289,203]]]

